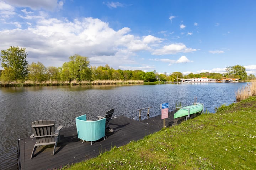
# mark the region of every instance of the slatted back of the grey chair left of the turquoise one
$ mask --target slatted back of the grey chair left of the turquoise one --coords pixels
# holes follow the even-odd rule
[[[52,120],[38,120],[31,123],[36,142],[54,142],[55,122]]]

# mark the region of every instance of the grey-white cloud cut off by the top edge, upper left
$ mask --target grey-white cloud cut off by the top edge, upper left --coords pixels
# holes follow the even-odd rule
[[[8,0],[8,4],[17,7],[30,7],[33,10],[55,10],[63,6],[63,1],[58,0]]]

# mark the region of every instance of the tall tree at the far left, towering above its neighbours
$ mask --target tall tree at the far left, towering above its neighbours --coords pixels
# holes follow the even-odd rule
[[[24,79],[28,76],[28,61],[26,48],[9,47],[7,50],[1,50],[3,68],[9,68],[14,71],[14,79]]]

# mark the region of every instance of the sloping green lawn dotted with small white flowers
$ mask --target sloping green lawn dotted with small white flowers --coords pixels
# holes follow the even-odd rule
[[[256,169],[256,97],[202,114],[63,169]]]

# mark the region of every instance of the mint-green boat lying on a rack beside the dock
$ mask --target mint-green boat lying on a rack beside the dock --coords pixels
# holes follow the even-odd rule
[[[187,104],[185,106],[177,107],[177,112],[174,113],[174,119],[183,116],[187,116],[187,118],[189,118],[191,114],[195,114],[201,111],[203,111],[202,103]]]

